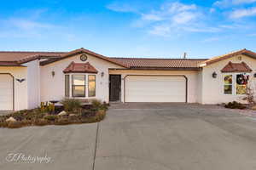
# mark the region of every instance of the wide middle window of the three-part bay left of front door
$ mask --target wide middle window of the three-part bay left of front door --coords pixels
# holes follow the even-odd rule
[[[72,76],[72,96],[85,97],[85,75]]]

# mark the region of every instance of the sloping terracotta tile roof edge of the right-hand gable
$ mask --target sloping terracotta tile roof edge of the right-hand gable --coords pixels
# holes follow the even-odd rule
[[[234,57],[236,55],[239,54],[245,54],[249,57],[252,57],[254,59],[256,59],[256,53],[254,53],[253,51],[247,50],[246,48],[235,51],[235,52],[231,52],[229,54],[224,54],[224,55],[219,55],[217,57],[213,57],[211,59],[207,59],[204,62],[201,63],[201,65],[205,64],[205,65],[211,65],[213,63],[216,63],[218,61],[224,60],[224,59],[229,59],[230,57]]]

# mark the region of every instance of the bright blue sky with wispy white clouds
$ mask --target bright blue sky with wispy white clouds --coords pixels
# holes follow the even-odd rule
[[[256,0],[9,0],[0,11],[0,50],[164,58],[256,51]]]

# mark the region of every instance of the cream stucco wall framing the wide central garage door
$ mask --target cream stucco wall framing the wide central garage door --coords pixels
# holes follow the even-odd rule
[[[188,78],[188,103],[197,103],[198,99],[198,72],[199,71],[135,71],[135,70],[110,70],[109,74],[122,76],[121,100],[124,101],[124,77],[126,75],[184,75]]]

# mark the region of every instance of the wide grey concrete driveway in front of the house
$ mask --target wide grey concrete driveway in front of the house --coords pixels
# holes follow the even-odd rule
[[[0,135],[4,170],[256,169],[255,119],[212,105],[112,105],[100,123],[0,129]],[[51,161],[9,162],[9,153]]]

